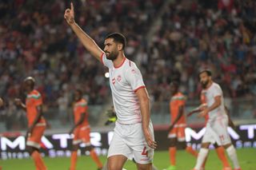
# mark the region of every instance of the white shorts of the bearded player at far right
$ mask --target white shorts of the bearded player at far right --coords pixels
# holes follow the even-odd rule
[[[206,124],[206,132],[202,137],[202,143],[215,142],[221,146],[230,144],[230,135],[227,131],[228,119],[226,117],[217,118],[215,121],[208,121]]]

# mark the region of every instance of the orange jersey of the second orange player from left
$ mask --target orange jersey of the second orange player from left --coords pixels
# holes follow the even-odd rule
[[[82,121],[82,125],[79,125],[79,126],[82,127],[82,126],[89,125],[87,110],[88,110],[88,105],[87,105],[87,101],[85,99],[81,99],[80,101],[77,101],[74,104],[74,124],[78,123],[82,113],[86,113],[86,117]]]

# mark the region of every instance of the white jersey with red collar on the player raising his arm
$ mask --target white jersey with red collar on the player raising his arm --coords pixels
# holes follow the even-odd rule
[[[126,57],[122,64],[114,67],[114,63],[102,53],[102,63],[109,68],[110,88],[114,110],[120,124],[137,124],[142,122],[138,97],[135,92],[145,88],[142,73],[133,61]]]

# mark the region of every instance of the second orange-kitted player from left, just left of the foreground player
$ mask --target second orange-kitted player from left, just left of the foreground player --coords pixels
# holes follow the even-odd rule
[[[75,170],[78,159],[79,144],[86,144],[86,150],[90,151],[90,156],[97,164],[98,169],[102,169],[102,163],[98,159],[94,147],[90,144],[90,125],[88,122],[88,106],[87,101],[82,98],[82,90],[76,89],[74,92],[74,126],[70,130],[70,134],[74,133],[73,152],[71,154],[70,170]]]

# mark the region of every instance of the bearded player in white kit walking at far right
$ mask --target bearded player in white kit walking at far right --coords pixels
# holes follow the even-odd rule
[[[198,153],[194,170],[202,168],[202,164],[209,152],[209,146],[214,142],[226,149],[234,165],[234,170],[241,170],[238,164],[237,153],[227,132],[228,117],[224,107],[222,89],[217,83],[212,81],[211,72],[208,69],[202,70],[199,73],[199,78],[203,88],[202,93],[206,95],[206,107],[203,108],[198,116],[205,117],[208,114],[209,120],[206,124],[206,132],[202,138],[202,146]]]

